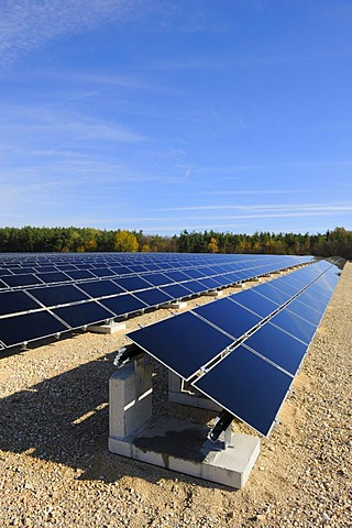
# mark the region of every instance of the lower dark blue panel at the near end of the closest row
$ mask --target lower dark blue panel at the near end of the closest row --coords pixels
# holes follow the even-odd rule
[[[292,376],[239,346],[194,385],[267,436],[292,382]]]

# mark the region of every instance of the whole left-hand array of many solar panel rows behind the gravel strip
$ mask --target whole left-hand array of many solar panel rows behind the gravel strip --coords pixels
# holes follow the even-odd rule
[[[0,349],[119,320],[310,256],[151,253],[0,255]]]

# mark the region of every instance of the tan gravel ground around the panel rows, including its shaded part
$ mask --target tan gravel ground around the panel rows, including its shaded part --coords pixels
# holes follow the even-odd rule
[[[108,380],[123,334],[80,333],[2,358],[1,527],[352,527],[351,293],[348,263],[241,491],[108,451]],[[131,319],[128,330],[167,315]],[[160,407],[165,371],[155,373]]]

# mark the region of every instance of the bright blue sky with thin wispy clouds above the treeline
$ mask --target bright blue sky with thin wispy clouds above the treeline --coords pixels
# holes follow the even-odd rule
[[[352,229],[351,0],[1,0],[0,226]]]

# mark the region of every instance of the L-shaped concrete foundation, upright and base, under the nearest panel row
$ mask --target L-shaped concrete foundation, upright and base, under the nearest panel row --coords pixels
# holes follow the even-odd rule
[[[152,380],[146,355],[130,361],[111,376],[109,450],[226,486],[243,487],[260,452],[258,438],[231,433],[224,447],[223,441],[208,440],[208,426],[153,416]],[[174,384],[176,387],[176,378]]]

